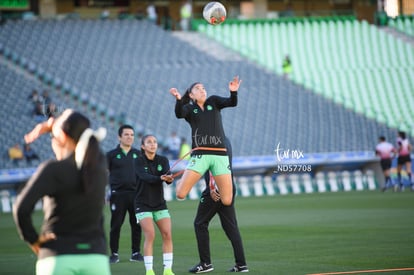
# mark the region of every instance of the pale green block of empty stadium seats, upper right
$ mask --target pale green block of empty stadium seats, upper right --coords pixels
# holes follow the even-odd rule
[[[411,31],[413,22],[404,17],[390,24]],[[354,18],[324,18],[227,22],[199,25],[198,31],[277,74],[289,54],[294,82],[414,134],[414,48],[377,26]]]

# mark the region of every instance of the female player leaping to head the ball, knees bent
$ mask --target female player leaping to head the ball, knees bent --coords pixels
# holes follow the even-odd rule
[[[176,98],[175,115],[190,124],[192,136],[193,153],[177,184],[178,199],[184,199],[201,176],[210,170],[220,191],[222,203],[231,204],[233,187],[220,111],[237,105],[240,84],[239,77],[234,77],[229,83],[228,98],[215,95],[207,98],[207,92],[199,82],[192,84],[183,96],[176,88],[170,89],[170,93]]]

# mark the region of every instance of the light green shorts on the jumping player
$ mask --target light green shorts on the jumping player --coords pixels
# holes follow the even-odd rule
[[[194,155],[188,161],[187,169],[200,175],[210,171],[213,176],[231,174],[228,156]]]

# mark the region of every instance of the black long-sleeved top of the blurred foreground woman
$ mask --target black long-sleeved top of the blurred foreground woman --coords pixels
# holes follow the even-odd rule
[[[18,195],[14,218],[20,236],[35,243],[39,235],[31,214],[43,199],[41,234],[54,233],[56,240],[42,244],[39,259],[61,254],[106,254],[103,224],[106,162],[97,167],[92,191],[85,193],[74,154],[61,161],[42,163]]]

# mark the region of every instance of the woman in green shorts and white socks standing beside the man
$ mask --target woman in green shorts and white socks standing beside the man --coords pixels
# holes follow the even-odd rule
[[[172,272],[173,243],[171,236],[171,217],[164,199],[163,182],[173,182],[168,159],[157,154],[158,143],[153,135],[146,135],[141,141],[142,155],[137,161],[138,190],[135,197],[137,221],[144,232],[144,264],[146,275],[153,275],[153,245],[155,239],[154,223],[162,236],[164,275]]]

